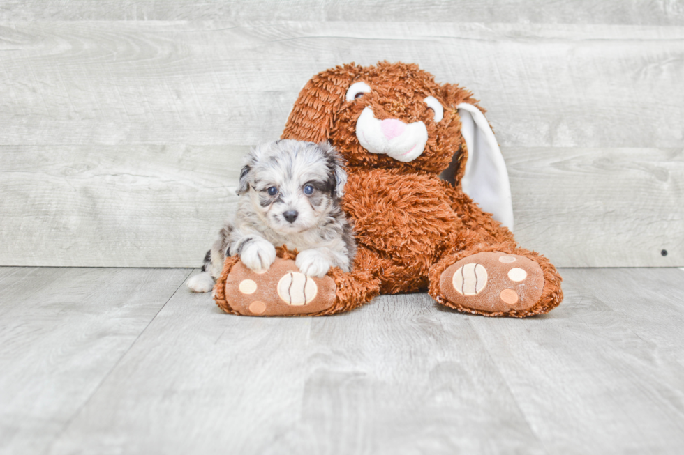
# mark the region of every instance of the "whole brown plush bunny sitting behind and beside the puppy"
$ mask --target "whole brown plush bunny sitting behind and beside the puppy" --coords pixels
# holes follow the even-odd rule
[[[258,275],[230,257],[215,287],[218,305],[233,314],[321,315],[378,292],[427,290],[440,304],[486,316],[558,306],[556,268],[519,248],[508,229],[510,186],[483,113],[470,92],[437,84],[413,64],[352,63],[315,75],[282,138],[330,141],[347,160],[342,206],[355,224],[354,268],[299,276],[296,252],[279,248]],[[454,185],[440,178],[446,169]]]

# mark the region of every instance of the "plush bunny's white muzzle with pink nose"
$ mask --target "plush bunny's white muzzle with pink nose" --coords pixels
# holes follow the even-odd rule
[[[385,153],[394,160],[410,162],[419,157],[427,142],[425,123],[403,123],[396,118],[378,120],[366,107],[356,122],[359,143],[370,153]]]

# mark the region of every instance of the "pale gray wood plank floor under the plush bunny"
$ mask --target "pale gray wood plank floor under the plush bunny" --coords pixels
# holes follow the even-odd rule
[[[526,320],[426,294],[228,316],[190,272],[0,268],[0,454],[684,447],[684,270],[564,269],[565,302]]]

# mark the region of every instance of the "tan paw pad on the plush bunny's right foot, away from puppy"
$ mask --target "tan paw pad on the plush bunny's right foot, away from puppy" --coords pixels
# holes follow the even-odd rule
[[[544,273],[532,259],[502,252],[482,252],[461,259],[440,277],[449,302],[487,312],[533,307],[544,288]]]

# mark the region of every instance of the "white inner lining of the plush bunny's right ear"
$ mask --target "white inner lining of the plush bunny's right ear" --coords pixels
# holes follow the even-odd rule
[[[513,203],[506,163],[494,132],[482,111],[466,102],[456,106],[461,116],[461,134],[468,147],[463,192],[513,232]]]

